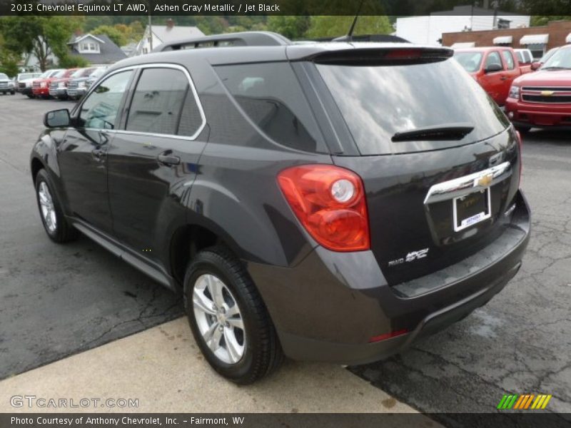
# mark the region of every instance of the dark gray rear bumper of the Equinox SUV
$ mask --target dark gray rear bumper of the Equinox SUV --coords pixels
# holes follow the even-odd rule
[[[475,260],[480,263],[477,269],[466,269],[470,263],[461,262],[403,287],[390,287],[372,253],[316,248],[296,267],[249,263],[248,271],[285,355],[341,364],[381,360],[469,315],[514,277],[530,236],[530,211],[522,193],[517,193],[515,204],[505,233],[488,254]],[[465,275],[459,276],[462,271]],[[407,332],[369,343],[371,337],[398,330]]]

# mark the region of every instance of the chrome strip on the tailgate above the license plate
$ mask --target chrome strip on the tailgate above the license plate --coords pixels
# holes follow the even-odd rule
[[[510,162],[504,162],[500,163],[500,165],[492,166],[492,168],[487,168],[486,170],[482,170],[478,173],[464,175],[460,178],[454,178],[453,180],[435,184],[430,188],[430,190],[428,190],[424,204],[427,205],[428,203],[435,203],[439,202],[440,200],[453,199],[461,195],[472,193],[475,190],[489,188],[498,181],[504,180],[511,175],[512,170],[510,166]],[[492,175],[492,183],[486,186],[478,185],[478,180],[480,180],[480,178],[486,177],[487,175]]]

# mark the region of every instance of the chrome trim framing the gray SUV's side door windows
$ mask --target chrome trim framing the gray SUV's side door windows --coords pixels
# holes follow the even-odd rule
[[[198,130],[195,133],[193,133],[192,136],[176,136],[172,134],[157,134],[157,133],[147,133],[147,132],[138,132],[138,131],[127,131],[124,129],[93,129],[93,128],[84,128],[84,129],[89,129],[92,131],[106,131],[106,132],[112,131],[114,133],[133,134],[133,135],[142,135],[142,136],[151,136],[151,137],[176,138],[178,140],[190,140],[190,141],[196,140],[196,138],[201,134],[204,127],[206,126],[206,115],[204,114],[204,109],[202,107],[201,100],[198,97],[198,92],[196,91],[196,86],[194,86],[191,74],[188,73],[188,70],[185,67],[180,66],[178,64],[145,63],[145,64],[138,64],[136,66],[126,66],[126,67],[117,68],[116,70],[113,70],[110,73],[101,76],[101,78],[99,78],[98,81],[96,81],[91,85],[91,87],[89,88],[89,92],[86,93],[86,95],[83,98],[83,101],[81,101],[81,104],[78,104],[76,108],[74,108],[74,113],[76,111],[79,111],[81,113],[81,106],[84,105],[85,100],[89,98],[89,96],[91,96],[91,93],[95,90],[95,88],[99,85],[100,82],[106,80],[107,78],[117,73],[122,73],[123,71],[129,71],[129,70],[134,71],[140,68],[173,68],[175,70],[182,71],[186,75],[186,78],[188,78],[188,83],[190,83],[191,85],[191,91],[193,93],[194,100],[196,101],[196,105],[198,106],[198,111],[201,114],[202,123],[201,126],[198,127]]]

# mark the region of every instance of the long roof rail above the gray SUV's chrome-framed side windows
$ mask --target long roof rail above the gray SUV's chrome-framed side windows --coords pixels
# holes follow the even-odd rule
[[[285,46],[291,41],[271,31],[243,31],[241,33],[213,34],[194,39],[168,41],[153,49],[153,52],[178,51],[227,46]]]

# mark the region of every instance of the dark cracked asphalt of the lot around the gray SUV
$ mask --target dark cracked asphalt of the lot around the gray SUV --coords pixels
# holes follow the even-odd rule
[[[0,379],[173,320],[181,300],[87,238],[56,245],[29,153],[44,112],[67,101],[0,96]],[[421,412],[491,412],[502,394],[553,394],[571,412],[571,138],[524,136],[532,239],[485,307],[403,355],[349,370]]]

